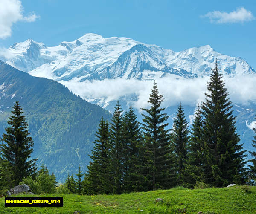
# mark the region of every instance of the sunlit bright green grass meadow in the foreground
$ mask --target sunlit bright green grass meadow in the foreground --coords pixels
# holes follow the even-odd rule
[[[24,197],[18,195],[17,197]],[[64,206],[50,207],[5,207],[0,198],[1,214],[256,214],[256,187],[243,186],[230,188],[186,189],[138,192],[121,195],[75,195],[41,194],[28,197],[64,197]],[[163,202],[155,202],[161,197]]]

